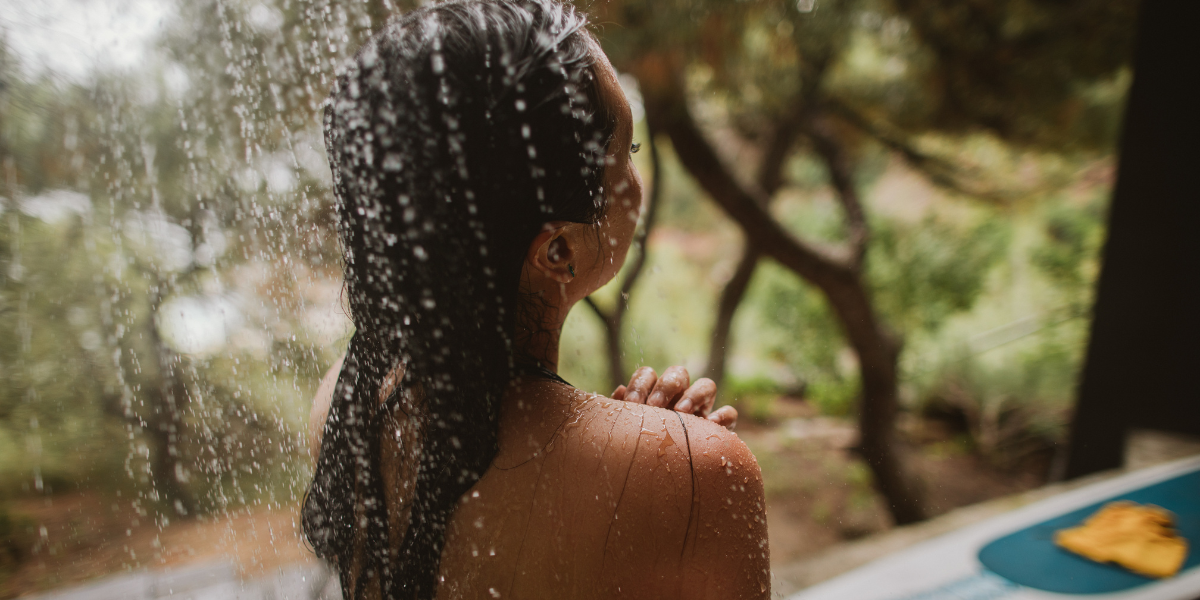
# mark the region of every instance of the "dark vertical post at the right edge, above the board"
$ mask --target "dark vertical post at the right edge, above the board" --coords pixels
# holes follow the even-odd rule
[[[1200,5],[1145,0],[1066,475],[1200,433]]]

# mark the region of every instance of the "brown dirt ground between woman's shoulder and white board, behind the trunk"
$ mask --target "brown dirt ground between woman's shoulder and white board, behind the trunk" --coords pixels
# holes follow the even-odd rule
[[[767,424],[738,426],[763,472],[772,564],[892,528],[870,470],[854,454],[853,421],[816,415],[799,401],[781,400],[775,407]],[[1049,472],[1049,462],[1037,458],[998,469],[938,422],[911,424],[900,437],[932,515],[1039,487]]]

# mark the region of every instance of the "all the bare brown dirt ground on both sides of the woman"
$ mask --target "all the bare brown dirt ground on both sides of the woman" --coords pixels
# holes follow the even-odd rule
[[[853,452],[853,422],[820,416],[799,401],[774,404],[767,422],[743,421],[738,427],[763,470],[772,563],[787,564],[888,529],[870,472]],[[1044,482],[1044,463],[1000,470],[966,450],[953,432],[925,425],[919,434],[908,431],[901,437],[908,440],[910,463],[936,512]],[[0,570],[0,598],[133,569],[223,558],[253,577],[313,559],[299,535],[296,506],[174,521],[161,529],[128,502],[95,493],[13,499],[8,510],[16,524],[28,529],[25,539],[34,540],[34,547],[16,569]]]

